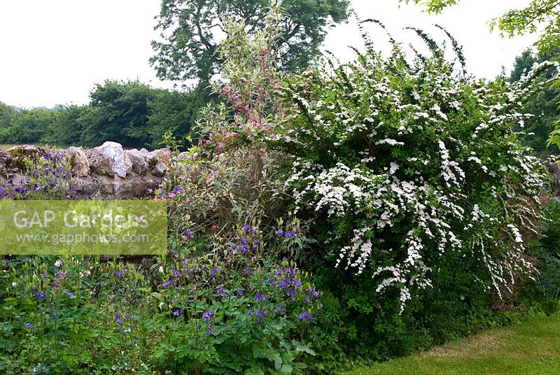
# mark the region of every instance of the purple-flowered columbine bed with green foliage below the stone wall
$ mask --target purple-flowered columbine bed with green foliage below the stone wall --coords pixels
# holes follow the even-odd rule
[[[315,355],[309,276],[253,250],[151,266],[17,257],[0,269],[2,373],[291,374]]]

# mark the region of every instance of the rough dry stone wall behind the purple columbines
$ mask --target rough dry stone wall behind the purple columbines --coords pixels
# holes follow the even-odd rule
[[[8,179],[25,178],[26,160],[43,157],[48,150],[38,146],[0,148],[0,185]],[[123,150],[116,142],[90,149],[57,150],[69,159],[70,190],[77,199],[133,199],[151,194],[168,174],[169,150]],[[13,193],[13,192],[10,192]]]

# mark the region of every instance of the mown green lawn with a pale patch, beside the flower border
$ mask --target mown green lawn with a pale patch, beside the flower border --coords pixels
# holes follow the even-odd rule
[[[560,313],[482,332],[349,374],[560,374]]]

